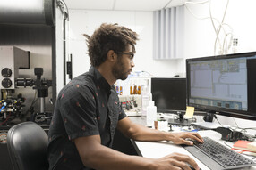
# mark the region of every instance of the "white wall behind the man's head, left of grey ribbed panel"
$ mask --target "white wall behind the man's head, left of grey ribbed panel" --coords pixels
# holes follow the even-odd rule
[[[101,23],[118,23],[132,28],[139,34],[136,45],[133,70],[148,71],[156,77],[173,77],[178,60],[153,60],[153,12],[121,12],[121,11],[70,11],[70,53],[73,53],[73,77],[90,68],[89,56],[86,54],[86,33],[91,35]]]

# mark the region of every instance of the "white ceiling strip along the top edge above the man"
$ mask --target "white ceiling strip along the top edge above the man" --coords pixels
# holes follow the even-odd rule
[[[185,0],[64,0],[69,9],[156,11],[182,4]]]

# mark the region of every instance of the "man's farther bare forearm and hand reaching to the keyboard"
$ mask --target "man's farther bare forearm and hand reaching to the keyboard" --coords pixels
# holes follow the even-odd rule
[[[192,142],[185,140],[190,138],[203,142],[200,134],[197,133],[167,133],[150,129],[143,125],[133,123],[129,117],[125,117],[118,122],[117,129],[126,137],[136,141],[172,141],[175,144],[192,145]]]

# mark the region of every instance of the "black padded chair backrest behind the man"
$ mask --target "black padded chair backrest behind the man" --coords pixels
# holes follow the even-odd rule
[[[14,170],[47,170],[47,133],[34,122],[14,125],[7,134],[7,148]]]

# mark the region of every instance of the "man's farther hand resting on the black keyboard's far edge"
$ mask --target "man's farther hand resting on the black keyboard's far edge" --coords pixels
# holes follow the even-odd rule
[[[174,142],[175,144],[185,144],[185,145],[193,145],[192,141],[203,142],[203,139],[200,134],[198,133],[190,133],[190,132],[183,132],[183,133],[172,133],[172,139],[170,141]],[[192,141],[186,140],[191,139]]]

